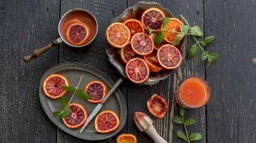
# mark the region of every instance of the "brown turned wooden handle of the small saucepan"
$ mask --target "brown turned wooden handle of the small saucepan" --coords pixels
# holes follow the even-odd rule
[[[47,50],[49,50],[51,47],[54,47],[54,46],[60,44],[60,42],[59,42],[58,40],[59,40],[59,39],[55,39],[55,40],[52,41],[50,44],[48,44],[48,45],[46,45],[46,46],[44,46],[44,47],[41,47],[41,48],[38,48],[38,49],[34,50],[30,55],[25,55],[25,56],[23,57],[23,60],[27,63],[27,62],[30,61],[31,59],[43,55],[43,53],[46,52]]]

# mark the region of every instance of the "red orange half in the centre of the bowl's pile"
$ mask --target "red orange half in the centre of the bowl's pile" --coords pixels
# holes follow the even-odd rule
[[[138,55],[149,55],[154,50],[154,42],[151,36],[144,33],[136,33],[131,38],[131,48]]]

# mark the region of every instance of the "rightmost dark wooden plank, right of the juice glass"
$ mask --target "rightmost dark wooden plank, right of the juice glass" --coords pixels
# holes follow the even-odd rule
[[[208,142],[256,142],[256,2],[204,1],[207,49],[218,60],[206,69],[212,88],[207,106]],[[216,8],[218,7],[218,9]]]

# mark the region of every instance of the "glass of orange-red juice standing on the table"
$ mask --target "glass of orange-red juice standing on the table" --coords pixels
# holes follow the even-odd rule
[[[200,77],[189,77],[176,90],[175,98],[185,109],[205,106],[210,99],[209,84]]]

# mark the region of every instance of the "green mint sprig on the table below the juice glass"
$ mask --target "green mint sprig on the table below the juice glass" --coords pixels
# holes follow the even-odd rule
[[[196,123],[196,121],[193,118],[188,118],[188,119],[184,120],[185,109],[183,109],[183,108],[180,109],[180,115],[181,115],[181,117],[175,116],[175,117],[171,118],[171,120],[172,120],[172,122],[174,122],[176,124],[183,125],[186,134],[183,133],[183,131],[178,130],[177,136],[188,143],[190,143],[191,141],[199,141],[200,139],[202,139],[202,134],[200,134],[200,133],[192,133],[192,134],[188,135],[186,126],[193,125],[194,123]]]

